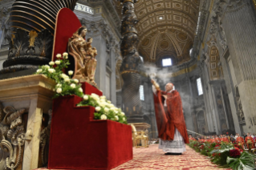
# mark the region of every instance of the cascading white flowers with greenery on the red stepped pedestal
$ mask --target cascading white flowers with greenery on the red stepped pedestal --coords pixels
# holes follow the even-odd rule
[[[78,103],[77,106],[95,107],[95,119],[111,119],[116,122],[127,124],[127,118],[124,112],[122,112],[120,108],[115,107],[110,100],[107,100],[106,96],[99,96],[94,93],[91,95],[84,95],[79,80],[71,79],[71,75],[73,75],[74,72],[68,71],[68,75],[63,73],[63,69],[67,68],[67,65],[70,64],[67,53],[63,53],[63,56],[58,54],[56,57],[58,60],[50,62],[50,66],[44,65],[39,67],[35,73],[38,75],[45,75],[48,78],[55,80],[56,86],[54,98],[64,95],[78,95],[83,98],[83,101]],[[55,64],[56,67],[53,67]]]

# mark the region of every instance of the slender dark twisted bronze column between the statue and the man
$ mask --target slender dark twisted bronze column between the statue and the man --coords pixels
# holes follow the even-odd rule
[[[124,86],[122,88],[122,98],[124,111],[128,116],[128,123],[143,122],[140,102],[140,71],[142,61],[136,50],[139,42],[136,23],[138,22],[134,13],[134,3],[137,0],[120,0],[123,3],[121,34],[122,42],[120,46],[123,56],[123,63],[120,67]]]

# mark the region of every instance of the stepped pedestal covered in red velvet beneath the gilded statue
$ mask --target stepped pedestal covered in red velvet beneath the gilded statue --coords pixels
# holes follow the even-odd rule
[[[53,101],[48,168],[111,169],[132,160],[132,128],[94,120],[94,107],[71,95]]]

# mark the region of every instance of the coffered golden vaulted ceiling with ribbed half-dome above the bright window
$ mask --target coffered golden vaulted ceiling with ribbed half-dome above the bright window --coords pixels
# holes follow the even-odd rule
[[[140,55],[157,63],[167,56],[174,64],[188,61],[197,29],[199,0],[140,0],[135,4]]]

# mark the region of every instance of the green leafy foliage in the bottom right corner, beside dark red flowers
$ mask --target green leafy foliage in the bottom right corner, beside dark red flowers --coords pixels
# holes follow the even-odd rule
[[[234,170],[250,170],[254,169],[254,158],[255,156],[249,152],[242,152],[238,158],[227,157],[226,164]]]

